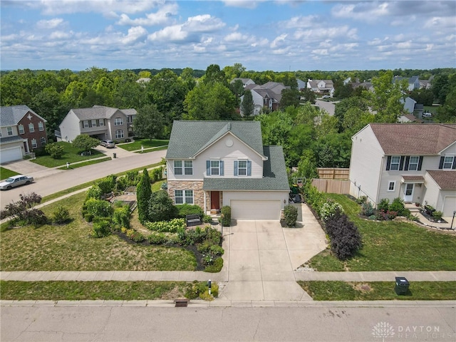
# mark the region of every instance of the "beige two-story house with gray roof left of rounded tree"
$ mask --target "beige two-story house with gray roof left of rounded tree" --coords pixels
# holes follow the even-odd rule
[[[123,141],[133,135],[135,109],[118,109],[94,105],[91,108],[71,109],[56,131],[58,141],[71,142],[78,135],[87,134],[100,140]]]

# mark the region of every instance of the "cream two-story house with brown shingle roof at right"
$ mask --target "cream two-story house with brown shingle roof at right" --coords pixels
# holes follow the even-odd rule
[[[353,135],[350,194],[456,210],[456,125],[371,123]]]

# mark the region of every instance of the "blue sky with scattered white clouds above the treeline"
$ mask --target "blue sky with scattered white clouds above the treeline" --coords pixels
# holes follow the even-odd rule
[[[456,67],[456,1],[0,0],[0,68]]]

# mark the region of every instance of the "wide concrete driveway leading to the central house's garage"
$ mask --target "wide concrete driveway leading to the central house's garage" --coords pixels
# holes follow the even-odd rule
[[[298,204],[299,228],[279,221],[238,220],[224,227],[228,283],[219,299],[231,301],[311,300],[296,283],[295,270],[326,248],[323,229],[306,204]],[[304,221],[302,221],[304,218]]]

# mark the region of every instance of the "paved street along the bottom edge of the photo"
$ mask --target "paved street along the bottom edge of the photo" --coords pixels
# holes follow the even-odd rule
[[[2,306],[1,341],[455,341],[454,307]]]

